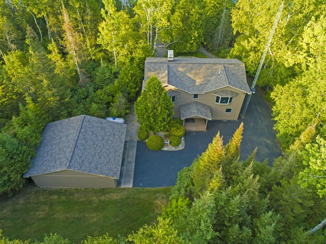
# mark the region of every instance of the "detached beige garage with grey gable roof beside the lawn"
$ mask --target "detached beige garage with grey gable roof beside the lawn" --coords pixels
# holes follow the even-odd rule
[[[88,115],[48,123],[23,175],[39,187],[114,188],[126,125]]]

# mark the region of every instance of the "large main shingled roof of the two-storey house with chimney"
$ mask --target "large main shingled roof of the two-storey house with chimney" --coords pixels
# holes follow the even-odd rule
[[[227,58],[148,57],[145,61],[147,81],[152,75],[163,85],[171,85],[192,94],[204,94],[231,86],[250,94],[244,63]]]

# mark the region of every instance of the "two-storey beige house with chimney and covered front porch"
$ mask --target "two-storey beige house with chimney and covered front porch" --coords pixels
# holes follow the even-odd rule
[[[246,94],[246,69],[238,59],[148,57],[143,87],[152,76],[161,81],[174,103],[174,117],[186,130],[206,130],[207,121],[237,120]]]

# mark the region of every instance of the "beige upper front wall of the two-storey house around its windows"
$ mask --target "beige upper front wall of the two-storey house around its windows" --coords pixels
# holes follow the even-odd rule
[[[171,86],[167,86],[166,89],[171,89]],[[236,93],[239,93],[237,96],[233,97],[232,103],[230,104],[216,104],[216,96],[213,93],[218,92],[219,90],[233,90]],[[174,106],[174,116],[175,118],[180,117],[180,106],[186,103],[191,103],[194,101],[207,104],[210,106],[210,112],[212,114],[213,120],[237,120],[240,114],[241,106],[246,94],[241,90],[235,89],[233,87],[223,87],[217,90],[206,94],[199,94],[198,99],[193,98],[193,94],[183,92],[182,90],[176,89],[180,94],[176,96]],[[227,108],[232,108],[231,113],[226,113]]]

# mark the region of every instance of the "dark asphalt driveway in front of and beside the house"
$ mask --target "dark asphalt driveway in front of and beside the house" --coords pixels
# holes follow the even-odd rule
[[[194,159],[206,150],[218,131],[226,144],[241,122],[244,127],[241,160],[250,156],[255,147],[257,147],[256,160],[260,162],[267,159],[268,163],[272,164],[274,159],[282,155],[276,141],[276,132],[273,129],[275,123],[271,120],[271,109],[263,96],[256,92],[250,100],[244,118],[239,117],[237,121],[208,121],[206,132],[186,132],[183,150],[152,151],[147,148],[145,142],[138,141],[132,186],[174,186],[177,173],[182,168],[190,166]]]

